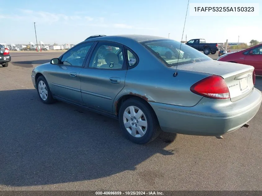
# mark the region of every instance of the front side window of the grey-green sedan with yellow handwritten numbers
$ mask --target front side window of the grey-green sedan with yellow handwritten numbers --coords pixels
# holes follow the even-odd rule
[[[87,42],[75,46],[65,53],[61,59],[61,64],[82,67],[84,59],[94,42]]]

